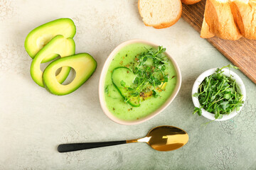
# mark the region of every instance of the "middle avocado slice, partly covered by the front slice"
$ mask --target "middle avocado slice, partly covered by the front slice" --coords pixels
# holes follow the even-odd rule
[[[36,82],[39,86],[43,87],[43,72],[40,69],[41,62],[50,56],[50,59],[53,60],[60,55],[60,57],[65,57],[68,55],[75,54],[75,42],[72,38],[65,38],[63,35],[57,35],[55,38],[50,40],[48,44],[43,47],[34,57],[31,63],[31,77],[33,81]],[[70,72],[70,67],[64,66],[61,68],[60,73],[55,77],[56,81],[60,84],[65,81]]]

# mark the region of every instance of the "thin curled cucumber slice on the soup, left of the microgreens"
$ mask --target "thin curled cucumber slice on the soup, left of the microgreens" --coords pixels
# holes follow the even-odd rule
[[[127,67],[117,67],[112,72],[112,83],[119,91],[119,94],[127,101],[129,105],[139,107],[139,96],[132,96],[132,91],[129,90],[129,86],[132,86],[136,75]],[[124,82],[125,86],[122,86],[121,81]]]

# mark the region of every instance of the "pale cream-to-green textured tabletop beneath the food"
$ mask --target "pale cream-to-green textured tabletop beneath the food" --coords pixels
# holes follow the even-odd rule
[[[0,0],[0,7],[0,169],[256,169],[256,86],[236,71],[247,90],[245,107],[232,120],[203,126],[208,120],[192,115],[193,82],[206,69],[230,62],[183,19],[164,30],[146,27],[134,0]],[[53,96],[31,79],[23,42],[36,26],[61,17],[73,18],[76,52],[90,53],[98,67],[78,91]],[[182,86],[155,118],[119,125],[102,113],[97,84],[107,55],[134,38],[164,45],[181,68]],[[56,151],[65,142],[143,137],[158,125],[186,130],[188,144],[172,152],[146,144]]]

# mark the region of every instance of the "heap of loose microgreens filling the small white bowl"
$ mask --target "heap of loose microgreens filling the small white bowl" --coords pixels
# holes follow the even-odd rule
[[[238,69],[231,64],[225,67]],[[216,69],[214,74],[206,77],[198,87],[198,93],[193,94],[193,97],[197,97],[201,104],[200,108],[194,108],[193,114],[201,115],[201,108],[204,108],[215,114],[215,119],[221,119],[223,114],[228,115],[234,110],[239,111],[244,103],[243,96],[235,79],[223,74],[222,69],[225,67]]]

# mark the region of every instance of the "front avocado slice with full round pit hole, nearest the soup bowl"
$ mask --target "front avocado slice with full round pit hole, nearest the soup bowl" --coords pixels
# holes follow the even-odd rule
[[[55,79],[56,70],[64,66],[75,69],[75,79],[67,85],[60,84],[57,79]],[[87,53],[63,57],[51,62],[48,67],[46,67],[43,72],[43,84],[51,94],[58,96],[70,94],[91,77],[96,67],[97,62]]]

